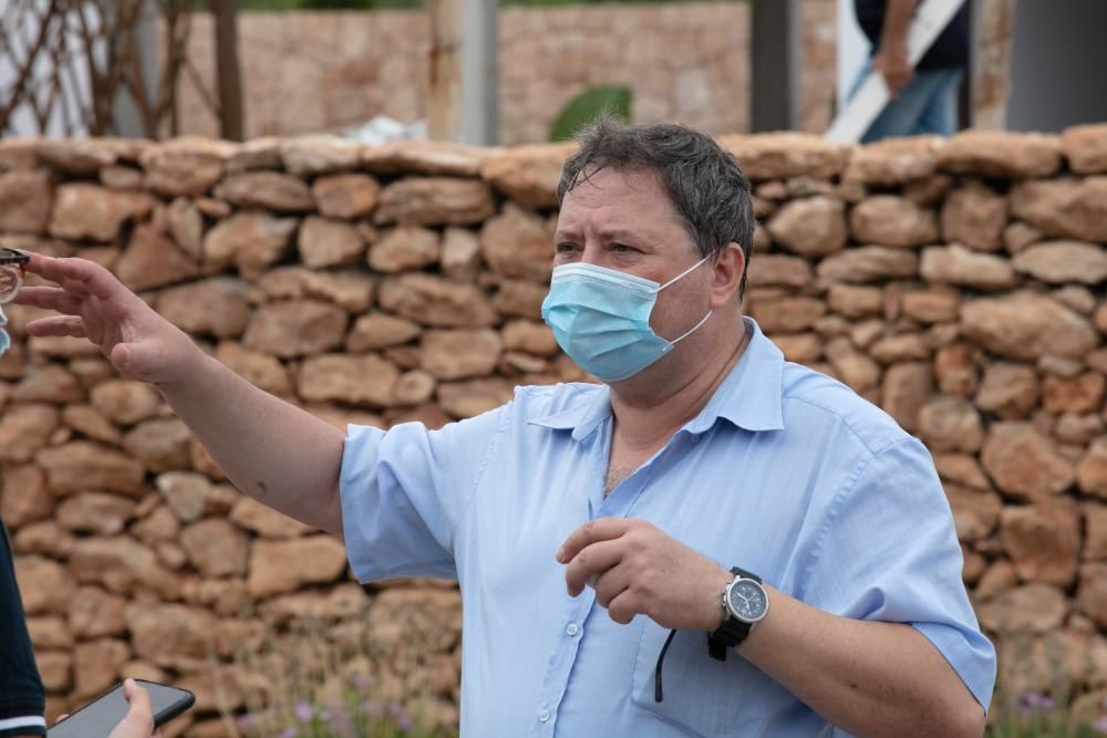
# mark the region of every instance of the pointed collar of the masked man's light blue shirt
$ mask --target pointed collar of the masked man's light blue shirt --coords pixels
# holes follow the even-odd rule
[[[784,354],[762,333],[757,321],[744,318],[752,332],[749,345],[730,375],[700,414],[684,425],[692,434],[702,434],[724,418],[745,430],[782,430],[782,387]],[[600,385],[587,399],[572,407],[530,420],[556,430],[572,430],[573,440],[582,440],[611,417],[611,391]]]

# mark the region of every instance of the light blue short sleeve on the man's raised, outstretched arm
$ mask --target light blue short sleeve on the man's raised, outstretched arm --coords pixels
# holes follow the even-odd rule
[[[504,406],[439,430],[348,427],[339,490],[359,581],[457,578],[455,532],[508,416]]]

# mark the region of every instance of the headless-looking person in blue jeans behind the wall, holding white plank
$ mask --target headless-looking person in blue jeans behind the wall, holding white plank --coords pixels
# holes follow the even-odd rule
[[[857,22],[872,43],[853,92],[877,70],[891,95],[861,138],[863,144],[897,136],[950,136],[958,129],[958,90],[969,66],[969,1],[912,67],[907,32],[918,6],[919,0],[853,0]]]

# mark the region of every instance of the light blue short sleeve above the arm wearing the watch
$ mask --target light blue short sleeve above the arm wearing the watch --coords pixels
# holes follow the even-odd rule
[[[906,438],[858,464],[828,510],[798,594],[836,615],[912,625],[986,709],[995,649],[980,631],[962,567],[930,454]]]

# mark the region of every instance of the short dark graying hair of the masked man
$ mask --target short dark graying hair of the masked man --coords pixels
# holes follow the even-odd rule
[[[577,135],[580,148],[569,157],[558,184],[558,202],[600,169],[650,171],[669,193],[701,257],[712,257],[732,241],[742,247],[746,272],[754,240],[749,180],[733,154],[705,133],[670,123],[625,125],[600,117]]]

